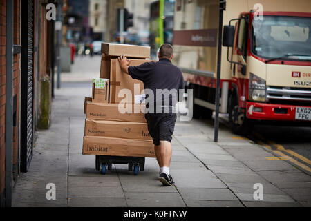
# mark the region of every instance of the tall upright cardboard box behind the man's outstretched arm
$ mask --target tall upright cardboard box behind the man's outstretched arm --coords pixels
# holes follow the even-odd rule
[[[131,66],[139,66],[146,62],[151,62],[148,60],[141,59],[131,59]],[[135,96],[140,97],[144,95],[144,84],[142,81],[137,79],[132,79],[130,75],[123,73],[120,68],[120,63],[118,59],[111,59],[111,70],[110,70],[110,95],[109,95],[109,103],[111,104],[119,104],[124,100],[124,98],[129,99],[130,104],[139,104],[135,103]],[[107,77],[107,76],[104,76]],[[135,84],[136,87],[135,88]],[[131,97],[127,97],[127,95],[123,95],[123,97],[119,97],[119,92],[122,89],[129,89],[131,91]]]

